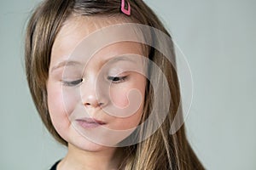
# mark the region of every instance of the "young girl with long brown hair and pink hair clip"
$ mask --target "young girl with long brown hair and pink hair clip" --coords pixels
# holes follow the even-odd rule
[[[169,133],[180,91],[172,39],[158,31],[171,38],[140,0],[38,6],[26,77],[44,125],[67,146],[51,169],[204,169],[184,126]]]

